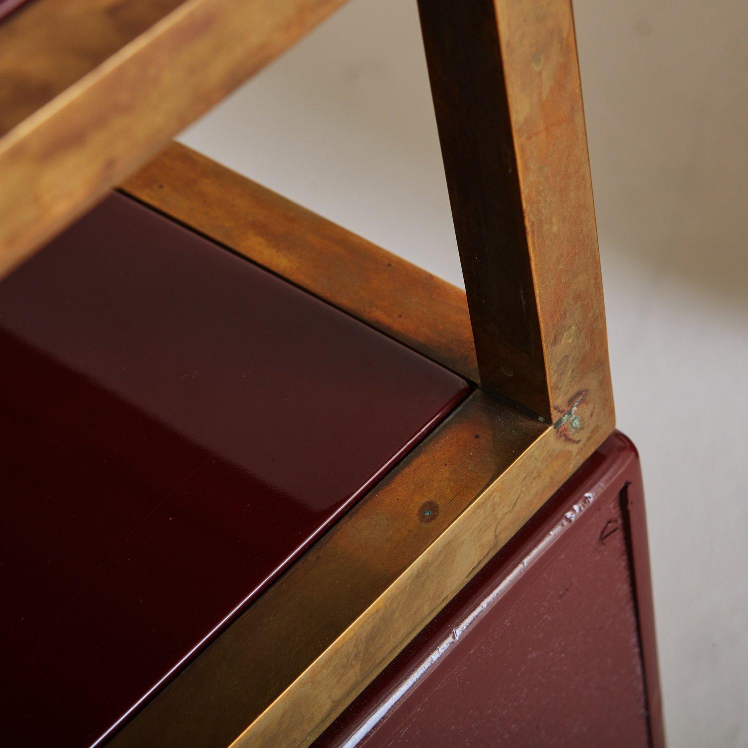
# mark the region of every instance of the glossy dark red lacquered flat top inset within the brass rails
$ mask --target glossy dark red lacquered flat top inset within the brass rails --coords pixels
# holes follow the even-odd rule
[[[468,391],[129,198],[0,284],[0,744],[91,744]]]

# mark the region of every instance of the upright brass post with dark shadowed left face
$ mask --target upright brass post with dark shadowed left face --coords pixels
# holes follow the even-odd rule
[[[419,7],[481,386],[583,420],[610,371],[571,1]]]

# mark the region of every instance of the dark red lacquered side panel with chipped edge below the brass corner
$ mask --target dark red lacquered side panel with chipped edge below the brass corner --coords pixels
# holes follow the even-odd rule
[[[641,473],[625,436],[611,436],[315,746],[364,744],[664,747]]]

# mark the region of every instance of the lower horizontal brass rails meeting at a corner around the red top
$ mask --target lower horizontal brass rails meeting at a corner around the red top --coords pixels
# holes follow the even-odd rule
[[[465,294],[399,257],[178,144],[123,191],[479,378]],[[599,287],[584,238],[580,282]],[[313,741],[613,431],[604,325],[587,324],[601,295],[571,300],[551,298],[567,325],[555,337],[588,366],[562,380],[574,393],[553,425],[476,390],[112,744]]]

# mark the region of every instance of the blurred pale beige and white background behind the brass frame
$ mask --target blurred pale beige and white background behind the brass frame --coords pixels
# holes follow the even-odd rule
[[[666,731],[748,745],[748,3],[574,2]],[[415,0],[352,0],[180,140],[462,286]]]

